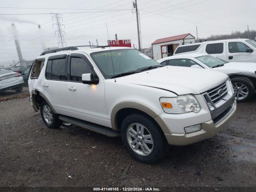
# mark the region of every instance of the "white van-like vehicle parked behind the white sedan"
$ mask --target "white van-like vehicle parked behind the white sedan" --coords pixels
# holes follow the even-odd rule
[[[226,62],[256,62],[256,42],[250,39],[226,39],[180,45],[174,55],[207,53]]]

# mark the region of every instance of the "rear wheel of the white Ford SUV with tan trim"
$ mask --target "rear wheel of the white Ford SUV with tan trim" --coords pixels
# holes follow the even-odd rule
[[[48,128],[57,129],[62,125],[62,121],[58,118],[58,115],[52,112],[50,105],[45,100],[40,104],[40,113],[44,124]]]

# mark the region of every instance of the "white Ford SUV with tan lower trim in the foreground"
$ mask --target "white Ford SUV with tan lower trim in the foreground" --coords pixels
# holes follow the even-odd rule
[[[167,144],[211,138],[236,110],[226,74],[161,66],[132,48],[43,52],[28,80],[31,104],[49,128],[62,122],[122,137],[137,160],[160,160]],[[222,94],[225,92],[225,94]]]

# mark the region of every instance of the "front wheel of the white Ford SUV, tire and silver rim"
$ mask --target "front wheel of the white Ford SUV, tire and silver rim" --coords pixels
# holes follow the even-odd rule
[[[135,128],[139,126],[140,132],[133,134],[133,136],[129,135],[131,133],[130,128]],[[141,134],[142,126],[144,127],[144,134]],[[133,132],[134,133],[134,132]],[[151,134],[152,140],[149,138],[149,134]],[[143,163],[154,163],[160,161],[166,151],[167,141],[164,137],[164,134],[160,127],[154,122],[154,120],[144,114],[134,113],[128,115],[122,122],[121,125],[121,137],[124,143],[124,146],[128,150],[128,152],[132,155],[132,157]],[[136,140],[137,139],[137,140]],[[140,141],[140,142],[138,142]],[[153,141],[150,144],[150,141]],[[135,142],[135,144],[134,144]],[[146,152],[146,145],[150,152]],[[134,144],[134,145],[132,145]],[[139,144],[139,145],[138,145]],[[135,150],[138,145],[137,151]],[[142,147],[143,146],[143,147]],[[143,154],[143,150],[146,154]]]

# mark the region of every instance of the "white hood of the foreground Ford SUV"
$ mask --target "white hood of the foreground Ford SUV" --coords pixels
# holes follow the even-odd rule
[[[116,78],[116,82],[160,88],[182,94],[201,94],[200,90],[210,88],[228,76],[214,70],[165,66]]]

